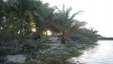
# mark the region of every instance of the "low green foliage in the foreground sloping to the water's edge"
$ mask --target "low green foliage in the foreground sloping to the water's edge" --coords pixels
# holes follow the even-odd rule
[[[73,56],[80,55],[75,47],[66,47],[58,45],[39,52],[36,59],[28,60],[27,64],[65,64]],[[31,62],[31,63],[30,63]]]

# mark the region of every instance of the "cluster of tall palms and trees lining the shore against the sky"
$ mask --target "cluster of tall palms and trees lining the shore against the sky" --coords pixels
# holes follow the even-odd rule
[[[11,32],[11,37],[14,39],[31,38],[34,34],[40,38],[44,36],[43,31],[49,29],[52,32],[62,33],[63,43],[67,34],[86,24],[74,19],[82,11],[70,16],[72,9],[65,9],[65,6],[59,10],[39,0],[1,0],[0,3],[1,31]]]

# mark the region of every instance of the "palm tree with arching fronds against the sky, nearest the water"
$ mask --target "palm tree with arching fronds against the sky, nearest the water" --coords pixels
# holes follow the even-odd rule
[[[58,8],[57,8],[58,9]],[[55,13],[53,18],[54,26],[59,29],[61,35],[61,43],[64,43],[64,37],[70,33],[70,29],[76,25],[76,23],[80,23],[75,21],[74,17],[78,15],[82,11],[78,11],[70,16],[71,8],[65,10],[65,6],[63,6],[62,10],[59,10]],[[78,24],[77,24],[78,25]],[[79,26],[82,24],[80,23]],[[79,26],[77,28],[79,28]]]

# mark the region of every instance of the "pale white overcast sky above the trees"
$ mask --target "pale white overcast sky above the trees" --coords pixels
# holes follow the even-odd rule
[[[72,7],[72,13],[84,11],[75,19],[87,22],[87,28],[94,28],[98,34],[113,37],[113,0],[43,0],[50,6]]]

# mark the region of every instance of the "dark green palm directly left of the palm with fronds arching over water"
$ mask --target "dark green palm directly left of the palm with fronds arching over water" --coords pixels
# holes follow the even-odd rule
[[[48,27],[52,24],[54,11],[55,9],[52,7],[50,8],[48,3],[41,4],[39,7],[36,7],[36,26],[38,27],[38,32],[40,32],[40,34],[43,31],[46,31]]]

